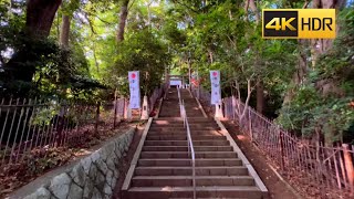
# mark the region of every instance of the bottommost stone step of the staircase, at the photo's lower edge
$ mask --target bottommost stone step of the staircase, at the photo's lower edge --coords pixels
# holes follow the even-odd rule
[[[192,198],[192,187],[132,187],[124,199]],[[196,187],[196,192],[199,198],[262,198],[262,192],[254,186]]]

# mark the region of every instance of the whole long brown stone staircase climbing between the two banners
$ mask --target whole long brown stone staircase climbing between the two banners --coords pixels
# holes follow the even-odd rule
[[[230,136],[220,130],[215,119],[202,117],[187,90],[181,90],[181,98],[196,151],[197,198],[264,198],[267,188],[235,142],[230,143]],[[176,88],[170,88],[163,102],[160,117],[149,122],[122,188],[122,198],[192,198],[191,158]]]

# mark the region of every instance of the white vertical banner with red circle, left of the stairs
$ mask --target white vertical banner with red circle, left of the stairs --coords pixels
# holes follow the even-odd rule
[[[131,91],[131,103],[132,109],[140,108],[140,86],[139,86],[139,72],[129,71],[129,91]]]

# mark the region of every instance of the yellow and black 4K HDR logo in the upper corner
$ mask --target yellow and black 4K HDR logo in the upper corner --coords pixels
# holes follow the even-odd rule
[[[335,9],[263,9],[262,12],[266,39],[335,38]]]

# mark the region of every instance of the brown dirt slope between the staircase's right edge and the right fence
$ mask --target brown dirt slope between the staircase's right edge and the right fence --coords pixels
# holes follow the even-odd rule
[[[248,160],[252,164],[253,168],[257,170],[258,175],[264,182],[266,187],[270,192],[270,198],[274,199],[299,199],[300,193],[293,192],[271,169],[269,163],[264,156],[259,151],[257,147],[246,137],[240,134],[235,124],[229,122],[222,122],[225,127],[229,130],[230,135],[241,148]]]

